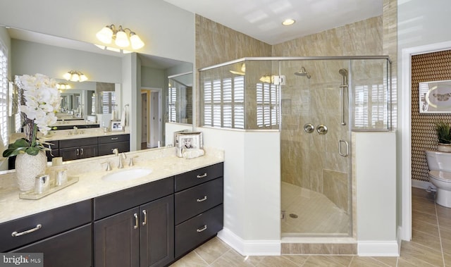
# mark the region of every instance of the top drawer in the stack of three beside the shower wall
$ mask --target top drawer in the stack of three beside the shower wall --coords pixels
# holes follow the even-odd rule
[[[223,166],[224,163],[221,162],[197,170],[191,170],[187,173],[175,175],[175,192],[223,176]]]

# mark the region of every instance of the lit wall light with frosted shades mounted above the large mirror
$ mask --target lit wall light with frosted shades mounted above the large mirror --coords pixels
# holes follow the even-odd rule
[[[129,28],[123,29],[122,25],[119,25],[119,28],[116,28],[114,24],[106,25],[97,32],[96,36],[104,44],[111,44],[114,39],[114,43],[119,47],[127,47],[131,44],[132,49],[140,49],[144,46],[144,42],[135,32]]]

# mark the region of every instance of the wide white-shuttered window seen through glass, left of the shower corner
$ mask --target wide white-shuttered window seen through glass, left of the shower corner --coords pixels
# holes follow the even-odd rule
[[[204,125],[245,128],[245,77],[204,81]]]

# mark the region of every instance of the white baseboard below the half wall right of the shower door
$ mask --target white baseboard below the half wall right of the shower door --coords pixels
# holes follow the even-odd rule
[[[400,256],[400,245],[393,241],[357,241],[359,256]]]

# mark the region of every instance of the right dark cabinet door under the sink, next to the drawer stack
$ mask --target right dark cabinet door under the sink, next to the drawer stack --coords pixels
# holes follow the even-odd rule
[[[174,259],[173,195],[140,206],[140,266],[167,266]]]

